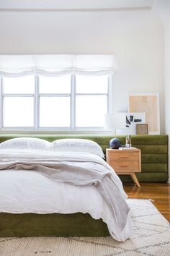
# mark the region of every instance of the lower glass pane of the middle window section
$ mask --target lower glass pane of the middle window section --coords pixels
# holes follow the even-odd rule
[[[70,127],[70,97],[40,97],[40,127]]]

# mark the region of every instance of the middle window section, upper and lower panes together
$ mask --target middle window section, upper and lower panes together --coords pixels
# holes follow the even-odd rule
[[[40,76],[40,127],[70,127],[71,75]]]

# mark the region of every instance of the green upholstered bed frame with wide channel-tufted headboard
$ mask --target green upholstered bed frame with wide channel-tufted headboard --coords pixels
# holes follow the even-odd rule
[[[15,137],[37,137],[52,142],[61,138],[84,138],[94,140],[105,153],[109,147],[108,135],[0,135],[0,142]],[[118,136],[125,144],[126,136]],[[137,174],[139,182],[167,182],[168,180],[168,136],[133,135],[132,144],[142,150],[142,172]],[[129,176],[122,181],[132,182]],[[107,225],[89,214],[12,214],[0,213],[0,236],[107,236]]]

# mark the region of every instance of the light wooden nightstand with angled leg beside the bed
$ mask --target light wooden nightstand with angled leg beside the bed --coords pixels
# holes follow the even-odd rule
[[[106,149],[107,163],[114,168],[117,174],[130,174],[135,184],[140,187],[135,172],[141,172],[141,150]]]

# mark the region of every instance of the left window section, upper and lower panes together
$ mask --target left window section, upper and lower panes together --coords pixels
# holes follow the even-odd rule
[[[34,126],[34,77],[2,79],[3,127]]]

